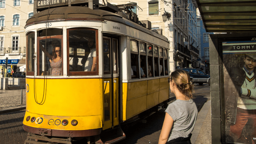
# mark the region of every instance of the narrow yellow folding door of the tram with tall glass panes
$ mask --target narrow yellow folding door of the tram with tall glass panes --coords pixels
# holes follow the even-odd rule
[[[103,130],[118,125],[118,41],[117,38],[103,37]]]

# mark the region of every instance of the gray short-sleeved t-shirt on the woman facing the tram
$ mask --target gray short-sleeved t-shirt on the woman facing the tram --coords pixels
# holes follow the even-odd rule
[[[178,137],[188,137],[194,129],[197,117],[197,108],[194,100],[175,100],[166,108],[174,123],[168,141]]]

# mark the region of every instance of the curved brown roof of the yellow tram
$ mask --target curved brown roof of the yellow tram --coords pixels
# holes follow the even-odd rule
[[[127,20],[118,14],[100,10],[100,9],[92,10],[88,7],[82,7],[82,6],[67,6],[67,7],[51,8],[51,9],[49,9],[49,13],[48,13],[48,10],[38,12],[34,16],[32,16],[30,19],[27,20],[25,27],[27,27],[30,24],[45,22],[47,20],[47,17],[48,17],[48,21],[52,21],[52,20],[110,20],[110,21],[122,23],[127,26],[136,28],[136,29],[146,32],[152,36],[163,39],[166,42],[169,42],[166,37],[164,37],[160,34],[157,34],[156,32],[151,31],[147,28],[144,28],[137,23]]]

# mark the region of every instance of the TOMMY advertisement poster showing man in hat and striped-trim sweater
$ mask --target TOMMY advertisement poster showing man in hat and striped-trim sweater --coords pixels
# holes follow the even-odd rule
[[[256,41],[222,42],[226,143],[256,144]]]

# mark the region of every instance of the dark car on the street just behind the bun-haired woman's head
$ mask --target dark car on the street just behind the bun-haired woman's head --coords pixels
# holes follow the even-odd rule
[[[204,83],[211,85],[210,75],[205,74],[204,71],[197,68],[178,68],[183,69],[188,72],[190,79],[193,77],[193,83],[198,83],[199,85],[203,85]]]

